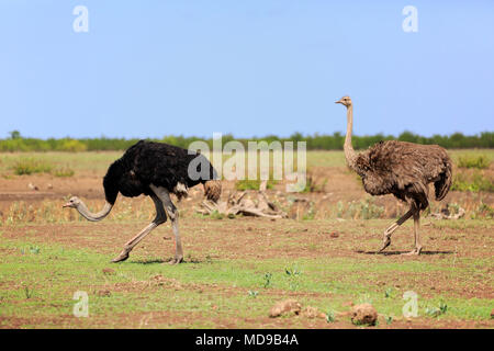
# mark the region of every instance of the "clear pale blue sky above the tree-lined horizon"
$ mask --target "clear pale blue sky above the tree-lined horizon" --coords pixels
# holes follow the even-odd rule
[[[490,0],[1,0],[0,45],[0,138],[494,129]]]

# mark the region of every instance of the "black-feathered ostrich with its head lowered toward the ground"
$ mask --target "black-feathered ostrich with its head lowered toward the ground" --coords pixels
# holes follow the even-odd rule
[[[189,152],[168,144],[141,140],[109,167],[103,178],[106,203],[102,211],[91,213],[77,196],[71,197],[64,207],[76,208],[88,220],[97,222],[108,216],[119,192],[130,197],[148,195],[156,206],[155,219],[125,244],[123,251],[112,262],[125,261],[144,237],[167,220],[168,214],[176,238],[176,252],[171,263],[180,263],[183,260],[183,251],[178,229],[179,213],[171,202],[170,193],[180,199],[187,196],[189,188],[202,183],[204,195],[216,202],[222,191],[213,166],[204,156]]]

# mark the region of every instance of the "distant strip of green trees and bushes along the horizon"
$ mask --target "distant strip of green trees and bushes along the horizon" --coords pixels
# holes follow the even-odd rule
[[[483,132],[479,135],[463,135],[462,133],[454,133],[451,135],[433,135],[431,137],[420,136],[411,132],[403,132],[397,137],[393,135],[364,135],[352,136],[352,144],[356,149],[366,149],[369,146],[380,140],[402,140],[417,144],[437,144],[448,149],[462,149],[462,148],[494,148],[494,132]],[[102,150],[124,150],[137,143],[139,139],[131,138],[31,138],[23,137],[20,132],[10,132],[10,136],[0,139],[1,152],[13,151],[102,151]],[[149,140],[162,141],[171,145],[176,145],[182,148],[188,148],[192,141],[203,140],[213,146],[213,139],[204,139],[200,137],[184,137],[184,136],[165,136],[161,139],[153,138]],[[307,150],[341,150],[345,143],[345,135],[336,132],[333,135],[314,134],[302,135],[301,133],[294,133],[288,138],[281,138],[276,135],[268,135],[265,137],[252,138],[234,138],[233,135],[223,135],[223,144],[237,140],[244,144],[247,148],[248,141],[266,140],[268,143],[278,141],[306,141]]]

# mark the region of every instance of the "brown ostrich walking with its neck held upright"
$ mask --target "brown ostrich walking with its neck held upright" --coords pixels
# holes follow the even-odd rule
[[[419,145],[388,140],[357,154],[351,146],[353,106],[349,97],[336,101],[347,107],[347,136],[345,158],[361,178],[363,189],[371,195],[393,194],[409,205],[409,211],[393,223],[383,235],[383,251],[391,244],[391,235],[406,219],[414,216],[415,249],[405,254],[419,254],[418,233],[420,211],[427,208],[428,184],[434,183],[436,200],[442,200],[451,186],[451,159],[438,145]]]

